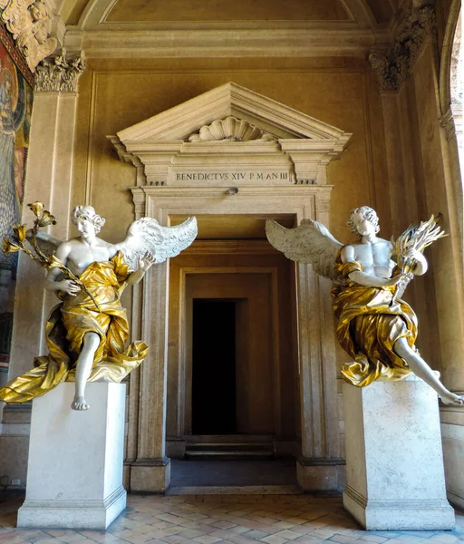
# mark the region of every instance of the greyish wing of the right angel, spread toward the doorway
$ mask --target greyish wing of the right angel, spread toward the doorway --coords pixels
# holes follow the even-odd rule
[[[335,258],[343,248],[322,223],[304,219],[299,227],[285,228],[274,219],[266,221],[266,236],[285,257],[313,265],[314,272],[333,281],[340,279]]]

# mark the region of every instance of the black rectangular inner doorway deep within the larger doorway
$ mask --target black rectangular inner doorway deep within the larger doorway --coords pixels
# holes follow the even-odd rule
[[[236,302],[193,299],[192,433],[237,432]]]

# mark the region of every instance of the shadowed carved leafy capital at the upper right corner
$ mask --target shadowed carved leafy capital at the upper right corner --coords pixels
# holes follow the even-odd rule
[[[426,37],[436,32],[433,9],[430,6],[412,8],[399,24],[390,49],[370,53],[369,61],[382,91],[397,91],[401,87],[401,83],[410,77]]]

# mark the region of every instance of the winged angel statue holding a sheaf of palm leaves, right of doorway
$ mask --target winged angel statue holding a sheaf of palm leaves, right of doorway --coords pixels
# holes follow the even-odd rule
[[[379,219],[368,206],[353,209],[347,223],[359,241],[343,246],[321,223],[305,219],[297,228],[266,222],[269,242],[285,257],[313,265],[333,280],[336,335],[353,359],[343,378],[364,387],[375,380],[401,380],[413,372],[445,404],[464,404],[464,397],[441,384],[416,349],[417,318],[400,296],[413,276],[427,271],[423,249],[444,233],[432,216],[410,227],[393,245],[378,238]]]

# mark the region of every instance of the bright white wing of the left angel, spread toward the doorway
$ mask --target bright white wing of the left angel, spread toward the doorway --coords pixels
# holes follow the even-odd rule
[[[189,248],[197,237],[196,218],[186,219],[175,227],[162,227],[156,219],[141,218],[131,223],[126,239],[115,244],[134,270],[139,266],[139,258],[147,253],[160,264],[168,257],[176,257],[180,251]]]

